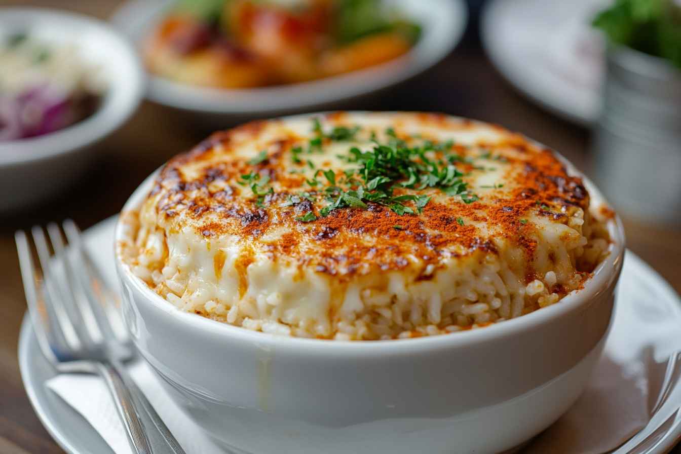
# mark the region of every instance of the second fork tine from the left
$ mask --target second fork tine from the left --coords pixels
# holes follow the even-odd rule
[[[45,240],[45,233],[42,228],[37,225],[31,229],[33,236],[33,243],[35,243],[35,249],[38,253],[38,259],[40,262],[40,267],[42,268],[43,282],[46,289],[46,296],[49,297],[50,306],[54,309],[55,317],[57,317],[57,325],[61,329],[64,340],[74,351],[80,350],[82,348],[82,342],[78,337],[78,332],[76,327],[74,327],[71,322],[71,317],[67,313],[63,299],[59,297],[59,293],[54,285],[54,277],[52,276],[52,267],[50,266],[50,252],[48,250],[47,242]]]

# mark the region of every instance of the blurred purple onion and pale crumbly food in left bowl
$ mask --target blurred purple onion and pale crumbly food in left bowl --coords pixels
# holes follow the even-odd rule
[[[91,116],[106,87],[75,44],[0,39],[0,142],[59,131]]]

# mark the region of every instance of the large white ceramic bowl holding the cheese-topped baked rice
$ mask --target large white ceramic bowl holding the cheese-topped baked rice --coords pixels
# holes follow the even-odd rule
[[[570,167],[571,168],[571,167]],[[572,173],[576,173],[571,168]],[[138,208],[155,175],[123,210]],[[585,179],[592,203],[603,198]],[[228,452],[499,453],[573,404],[610,323],[624,231],[584,289],[483,329],[407,340],[286,338],[180,312],[119,258],[125,323],[172,398]],[[116,227],[116,242],[123,238]]]

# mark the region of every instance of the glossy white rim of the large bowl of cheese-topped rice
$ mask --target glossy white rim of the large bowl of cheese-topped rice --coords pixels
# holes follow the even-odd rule
[[[350,114],[399,114],[405,112],[369,112],[369,111],[345,111]],[[294,118],[306,118],[317,116],[321,114],[326,114],[328,112],[313,112],[309,114],[298,114],[280,117],[281,119],[294,119]],[[461,116],[449,115],[449,118],[455,120],[470,120],[473,123],[490,125],[490,123],[481,120],[471,120],[469,118],[464,118]],[[541,144],[535,140],[532,140],[523,135],[528,141],[532,142],[537,146],[551,150],[554,155],[562,161],[569,174],[580,176],[583,179],[584,185],[590,195],[592,206],[598,208],[605,207],[609,208],[609,204],[605,201],[601,191],[597,189],[595,184],[593,184],[582,172],[579,172],[572,163],[570,163],[565,157],[560,155],[556,150]],[[142,184],[132,193],[129,199],[125,202],[121,213],[135,210],[148,195],[148,191],[151,190],[154,179],[157,174],[161,171],[161,168],[155,170],[153,174],[148,176]],[[524,314],[521,317],[516,317],[514,319],[505,320],[503,323],[493,323],[484,328],[480,329],[470,329],[467,331],[458,331],[452,334],[442,334],[436,336],[422,336],[419,338],[409,338],[409,339],[389,339],[389,340],[371,340],[371,341],[357,341],[357,340],[328,340],[328,339],[316,339],[316,338],[300,338],[294,336],[281,336],[277,334],[263,333],[261,331],[252,331],[244,327],[230,325],[229,323],[223,323],[202,317],[197,314],[191,314],[189,312],[183,312],[178,310],[175,306],[168,303],[161,295],[155,293],[152,289],[146,285],[137,276],[134,276],[129,269],[129,265],[123,263],[121,257],[118,256],[117,244],[121,238],[123,238],[123,224],[121,223],[121,218],[123,216],[118,216],[116,221],[116,228],[114,233],[114,255],[116,261],[116,272],[118,273],[121,281],[127,282],[132,285],[139,293],[144,297],[144,304],[151,304],[155,309],[161,310],[168,314],[169,317],[175,318],[177,321],[187,325],[188,329],[201,329],[206,331],[206,333],[214,334],[215,336],[225,336],[225,338],[235,338],[238,340],[243,340],[246,342],[254,342],[256,344],[264,346],[272,346],[276,348],[282,348],[283,346],[290,346],[291,348],[298,348],[302,351],[308,351],[310,353],[323,353],[323,354],[343,354],[343,353],[353,353],[353,354],[374,354],[374,353],[398,353],[398,352],[409,352],[409,351],[433,351],[439,348],[452,348],[454,346],[469,346],[471,344],[477,344],[480,342],[485,342],[488,340],[493,340],[495,338],[503,338],[505,336],[511,336],[518,331],[524,331],[532,329],[542,325],[546,321],[551,319],[558,319],[564,314],[568,314],[575,310],[578,310],[581,306],[588,304],[592,299],[595,299],[601,293],[607,291],[609,287],[614,287],[617,278],[619,277],[620,271],[622,270],[622,261],[624,259],[625,250],[625,237],[624,237],[624,225],[622,220],[615,214],[614,217],[609,218],[606,222],[607,230],[611,236],[611,244],[609,246],[609,255],[596,267],[596,270],[592,273],[592,276],[588,278],[584,286],[581,289],[571,291],[560,299],[560,304],[552,304],[551,306],[541,308],[530,312],[529,314]],[[138,300],[134,299],[134,304],[138,304]],[[320,350],[321,349],[321,350]]]

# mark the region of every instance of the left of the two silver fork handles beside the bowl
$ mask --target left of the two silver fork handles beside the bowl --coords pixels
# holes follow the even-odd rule
[[[99,372],[101,378],[104,378],[104,382],[114,398],[118,416],[123,421],[128,442],[133,452],[136,454],[153,454],[154,451],[152,451],[149,439],[144,432],[144,426],[140,421],[135,401],[116,366],[110,362],[99,362],[97,363],[97,372]]]

